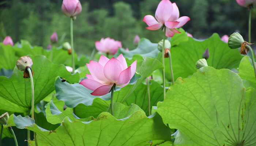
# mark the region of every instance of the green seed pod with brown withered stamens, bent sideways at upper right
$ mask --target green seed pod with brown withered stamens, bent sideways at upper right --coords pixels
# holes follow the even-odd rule
[[[240,54],[246,55],[249,51],[247,45],[252,45],[253,43],[244,41],[244,38],[238,32],[234,32],[230,35],[227,44],[229,45],[230,49],[241,47]]]

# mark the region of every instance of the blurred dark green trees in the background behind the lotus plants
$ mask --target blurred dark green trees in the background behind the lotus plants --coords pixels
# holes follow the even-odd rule
[[[142,21],[145,15],[155,14],[160,0],[80,0],[82,12],[74,22],[74,47],[78,54],[90,55],[94,42],[102,37],[122,41],[123,47],[135,49],[133,38],[146,37],[152,42],[162,38],[162,32],[147,30]],[[171,0],[176,3],[180,16],[191,20],[183,28],[194,38],[203,39],[212,33],[231,35],[239,31],[248,40],[247,8],[236,0]],[[2,0],[0,2],[0,41],[10,35],[14,42],[28,40],[31,45],[50,43],[56,31],[58,46],[70,42],[70,20],[61,12],[62,0]],[[252,14],[252,42],[256,35],[256,8]]]

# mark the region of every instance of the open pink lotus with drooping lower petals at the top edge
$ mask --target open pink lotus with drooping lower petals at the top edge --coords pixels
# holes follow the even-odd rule
[[[158,30],[162,26],[166,26],[166,37],[173,37],[175,33],[180,33],[180,31],[175,28],[179,28],[186,24],[190,18],[188,16],[182,16],[179,18],[180,12],[176,3],[171,3],[169,0],[162,0],[158,4],[157,10],[154,16],[146,15],[143,21],[147,23],[148,30]]]

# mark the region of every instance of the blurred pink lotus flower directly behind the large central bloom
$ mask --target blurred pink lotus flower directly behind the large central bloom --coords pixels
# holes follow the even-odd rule
[[[118,48],[122,47],[122,43],[110,38],[101,38],[101,41],[95,42],[95,47],[98,51],[114,55]]]

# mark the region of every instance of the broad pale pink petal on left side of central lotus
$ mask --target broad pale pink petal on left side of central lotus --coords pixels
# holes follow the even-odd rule
[[[90,64],[86,64],[86,65],[91,73],[91,76],[94,78],[95,81],[103,84],[109,83],[109,81],[104,76],[104,72],[103,72],[104,67],[101,64],[91,60]]]

